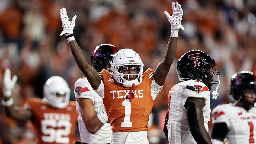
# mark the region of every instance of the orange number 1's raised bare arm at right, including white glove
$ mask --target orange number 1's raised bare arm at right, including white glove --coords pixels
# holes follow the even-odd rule
[[[167,11],[164,11],[164,14],[171,24],[171,36],[165,50],[164,59],[162,62],[159,63],[154,74],[154,80],[157,82],[158,85],[161,86],[164,85],[171,64],[173,63],[177,48],[179,29],[181,28],[182,30],[184,30],[184,27],[181,25],[183,11],[181,9],[181,5],[178,4],[178,2],[172,2],[172,16],[170,16]]]

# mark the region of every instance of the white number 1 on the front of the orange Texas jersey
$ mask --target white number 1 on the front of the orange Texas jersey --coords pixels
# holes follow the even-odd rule
[[[133,122],[130,122],[130,118],[131,118],[131,102],[130,99],[125,99],[122,102],[123,106],[124,106],[124,121],[122,121],[121,127],[132,127],[133,126]]]

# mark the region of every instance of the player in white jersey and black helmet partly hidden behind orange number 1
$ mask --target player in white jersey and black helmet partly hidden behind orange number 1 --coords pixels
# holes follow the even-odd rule
[[[91,53],[91,65],[98,71],[110,70],[109,61],[117,48],[111,44],[101,44]],[[87,144],[110,143],[111,126],[107,123],[107,114],[101,97],[92,89],[88,80],[79,78],[75,82],[76,110],[78,116],[78,128],[81,142]]]

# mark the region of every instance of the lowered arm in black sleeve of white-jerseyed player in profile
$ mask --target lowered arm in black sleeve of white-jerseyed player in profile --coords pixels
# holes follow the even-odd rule
[[[185,108],[187,109],[187,121],[197,143],[211,144],[209,133],[204,127],[203,107],[205,101],[202,98],[187,98]]]

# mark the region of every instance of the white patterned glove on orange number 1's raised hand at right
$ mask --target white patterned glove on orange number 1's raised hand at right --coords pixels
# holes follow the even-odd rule
[[[175,5],[176,3],[176,5]],[[181,5],[178,2],[172,2],[172,16],[167,11],[164,11],[165,16],[171,24],[171,29],[182,29],[184,27],[181,25],[183,11],[181,9]]]

